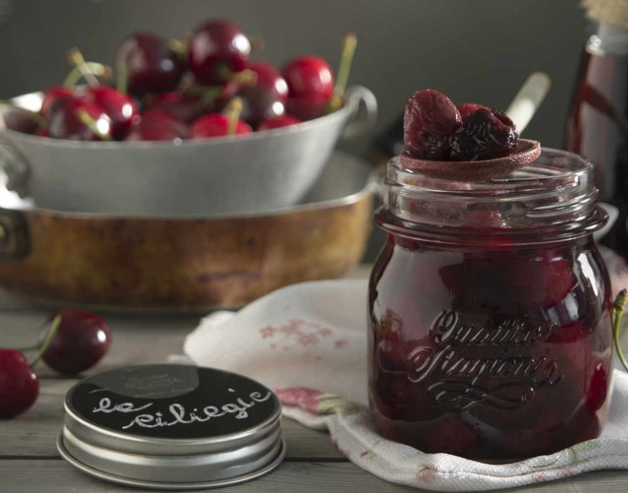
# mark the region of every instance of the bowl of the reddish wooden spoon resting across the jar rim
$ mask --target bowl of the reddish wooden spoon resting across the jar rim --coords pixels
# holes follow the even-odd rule
[[[514,154],[484,161],[431,161],[399,155],[401,167],[429,178],[452,181],[489,181],[528,165],[541,155],[538,141],[519,139]]]

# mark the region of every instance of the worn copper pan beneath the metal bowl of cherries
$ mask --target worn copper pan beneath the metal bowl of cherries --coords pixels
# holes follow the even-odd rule
[[[304,203],[208,217],[58,212],[4,190],[0,286],[45,304],[99,310],[237,308],[359,263],[376,182],[372,166],[336,152]]]

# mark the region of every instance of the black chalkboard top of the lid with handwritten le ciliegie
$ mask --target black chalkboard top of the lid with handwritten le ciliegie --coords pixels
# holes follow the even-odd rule
[[[259,382],[187,365],[142,365],[88,377],[68,393],[82,420],[154,438],[233,435],[276,419],[279,402]]]

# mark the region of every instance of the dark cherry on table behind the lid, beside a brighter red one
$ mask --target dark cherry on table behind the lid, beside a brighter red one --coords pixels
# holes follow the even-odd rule
[[[43,353],[43,360],[60,373],[73,375],[94,366],[111,345],[111,330],[95,313],[64,308],[52,313],[40,329],[40,344],[46,338],[53,319],[61,323]]]

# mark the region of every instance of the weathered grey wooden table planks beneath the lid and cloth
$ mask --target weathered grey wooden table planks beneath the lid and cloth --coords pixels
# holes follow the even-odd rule
[[[33,344],[49,313],[50,308],[0,290],[0,346]],[[165,362],[168,355],[181,353],[183,339],[196,327],[198,318],[198,315],[107,315],[113,336],[111,349],[85,375],[131,364]],[[77,379],[59,376],[43,363],[36,369],[41,387],[35,405],[12,420],[0,420],[0,492],[154,491],[96,479],[60,457],[55,441],[63,426],[63,398]],[[250,482],[210,490],[232,493],[417,491],[386,482],[355,466],[338,452],[323,431],[284,419],[283,434],[287,453],[278,469]],[[628,471],[611,470],[504,491],[624,493],[627,489]]]

